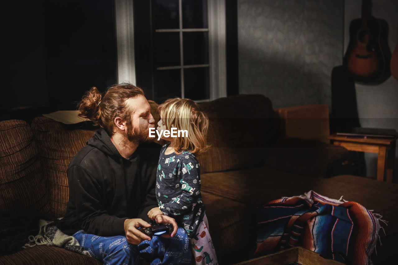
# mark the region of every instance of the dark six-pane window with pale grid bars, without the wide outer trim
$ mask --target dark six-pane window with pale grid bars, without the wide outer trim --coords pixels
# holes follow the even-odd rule
[[[154,0],[155,98],[210,99],[207,1]]]

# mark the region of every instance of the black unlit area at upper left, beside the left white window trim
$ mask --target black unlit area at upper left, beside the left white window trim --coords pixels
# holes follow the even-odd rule
[[[6,14],[2,108],[76,109],[93,86],[117,81],[114,4],[110,0],[12,1]]]

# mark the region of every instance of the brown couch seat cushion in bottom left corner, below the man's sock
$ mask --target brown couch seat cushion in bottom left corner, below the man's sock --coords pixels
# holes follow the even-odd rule
[[[11,255],[4,255],[0,257],[0,264],[100,265],[102,262],[93,257],[80,255],[61,247],[39,245],[27,247]]]

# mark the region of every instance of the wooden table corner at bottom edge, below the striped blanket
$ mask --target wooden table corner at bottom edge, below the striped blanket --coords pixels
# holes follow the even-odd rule
[[[236,265],[287,265],[297,262],[300,265],[342,265],[343,263],[324,259],[318,253],[303,247],[292,247],[277,253],[269,254],[256,259],[250,259]]]

